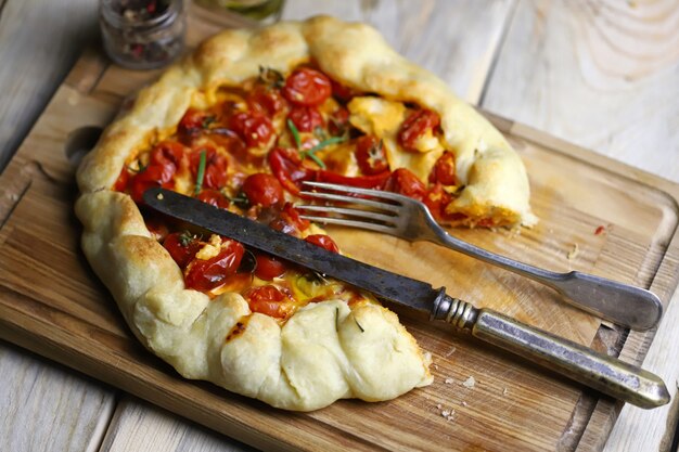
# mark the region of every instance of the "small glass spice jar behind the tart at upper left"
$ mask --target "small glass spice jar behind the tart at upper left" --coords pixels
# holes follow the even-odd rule
[[[182,0],[101,0],[99,13],[104,49],[120,66],[154,69],[183,50]]]

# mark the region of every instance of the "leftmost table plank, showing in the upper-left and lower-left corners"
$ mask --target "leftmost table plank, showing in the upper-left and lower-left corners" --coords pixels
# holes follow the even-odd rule
[[[0,3],[0,171],[97,33],[97,3]],[[40,29],[40,33],[36,33]],[[4,201],[4,199],[3,199]],[[0,450],[92,451],[115,406],[111,388],[0,343]]]

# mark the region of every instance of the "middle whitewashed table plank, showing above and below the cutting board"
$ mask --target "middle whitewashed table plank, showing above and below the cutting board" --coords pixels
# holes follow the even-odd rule
[[[469,102],[477,102],[512,4],[512,0],[484,3],[427,0],[420,4],[408,1],[289,0],[282,18],[302,20],[315,14],[331,14],[348,21],[369,22],[399,52],[444,78]],[[447,46],[441,46],[441,42]],[[131,451],[203,452],[219,447],[228,450],[246,448],[201,427],[177,422],[175,415],[140,403],[128,397],[118,408],[117,430],[110,430],[106,438],[112,444],[111,450],[118,450],[113,449],[117,444],[125,444]],[[171,424],[172,438],[181,436],[181,444],[185,449],[172,449],[175,445],[170,447],[165,440],[157,443],[133,440],[138,436],[163,438],[162,432],[167,430],[168,424]],[[137,443],[144,447],[134,445]]]

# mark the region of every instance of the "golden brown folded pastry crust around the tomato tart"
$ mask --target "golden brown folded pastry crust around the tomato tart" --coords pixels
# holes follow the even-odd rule
[[[85,254],[133,333],[180,374],[291,410],[349,397],[386,400],[427,385],[428,354],[394,313],[373,304],[312,304],[281,326],[252,313],[238,294],[210,300],[185,289],[134,203],[111,188],[131,152],[152,133],[176,127],[189,106],[210,105],[220,86],[239,85],[259,66],[287,73],[309,60],[349,87],[436,111],[467,185],[456,202],[462,211],[503,212],[509,222],[530,218],[525,170],[502,135],[367,25],[316,17],[228,30],[142,90],[78,169]]]

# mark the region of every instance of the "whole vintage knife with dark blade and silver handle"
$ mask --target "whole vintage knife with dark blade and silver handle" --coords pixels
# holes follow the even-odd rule
[[[328,251],[169,190],[151,189],[143,197],[150,207],[165,215],[345,281],[377,297],[430,312],[430,320],[448,322],[616,399],[644,409],[669,402],[669,392],[658,376],[497,311],[477,309],[448,296],[445,287],[435,289],[424,282]]]

